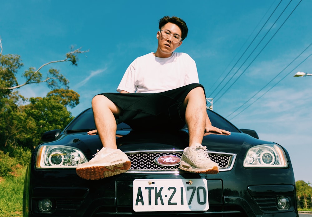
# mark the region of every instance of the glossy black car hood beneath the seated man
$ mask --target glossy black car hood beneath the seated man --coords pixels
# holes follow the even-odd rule
[[[150,149],[184,149],[188,147],[188,132],[178,131],[127,131],[116,132],[117,147],[122,151],[137,151]],[[47,144],[73,146],[85,153],[91,159],[97,149],[102,148],[98,135],[86,133],[61,134],[53,142]],[[232,133],[220,135],[206,133],[202,145],[212,152],[226,152],[245,155],[251,147],[259,144],[274,144],[251,137],[244,133]]]

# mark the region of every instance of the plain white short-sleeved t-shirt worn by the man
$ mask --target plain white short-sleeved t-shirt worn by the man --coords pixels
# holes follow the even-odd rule
[[[195,61],[186,53],[168,58],[153,53],[136,58],[127,68],[117,88],[129,93],[159,93],[199,83]]]

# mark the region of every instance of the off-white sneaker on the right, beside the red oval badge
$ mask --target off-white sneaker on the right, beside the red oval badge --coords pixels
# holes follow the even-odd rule
[[[217,174],[219,166],[209,158],[206,148],[201,144],[185,148],[179,168],[188,172]]]

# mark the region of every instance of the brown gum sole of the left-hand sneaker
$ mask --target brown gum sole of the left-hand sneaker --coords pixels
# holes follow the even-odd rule
[[[119,164],[109,166],[91,166],[76,169],[76,173],[83,179],[104,179],[113,175],[118,175],[130,169],[131,162],[125,161]]]

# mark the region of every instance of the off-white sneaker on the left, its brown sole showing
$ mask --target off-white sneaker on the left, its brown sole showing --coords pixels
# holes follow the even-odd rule
[[[126,172],[131,162],[119,149],[102,148],[89,162],[78,164],[76,173],[83,179],[103,179]]]

